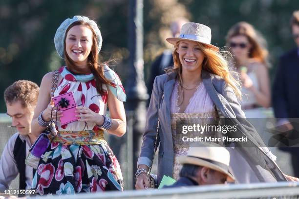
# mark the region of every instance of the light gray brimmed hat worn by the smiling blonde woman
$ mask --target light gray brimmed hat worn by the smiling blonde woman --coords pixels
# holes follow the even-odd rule
[[[180,35],[178,37],[167,38],[166,40],[175,45],[178,41],[181,40],[189,40],[196,41],[206,46],[214,49],[215,51],[219,51],[219,48],[211,44],[212,34],[211,28],[206,25],[200,23],[185,23],[182,26],[180,31]]]

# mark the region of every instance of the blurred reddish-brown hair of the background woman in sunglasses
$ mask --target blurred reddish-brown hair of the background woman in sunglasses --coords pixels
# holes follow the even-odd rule
[[[249,58],[252,58],[257,62],[261,62],[269,67],[269,52],[266,49],[267,43],[266,40],[261,36],[261,34],[256,31],[256,29],[251,24],[241,21],[233,25],[228,31],[226,35],[226,45],[229,46],[231,38],[239,35],[245,36],[251,44]],[[234,62],[236,64],[235,66],[238,67],[239,63],[237,62],[237,60],[234,59]]]

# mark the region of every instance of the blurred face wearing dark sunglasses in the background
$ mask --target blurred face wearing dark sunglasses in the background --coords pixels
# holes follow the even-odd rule
[[[249,40],[246,36],[237,35],[235,37],[232,37],[229,42],[230,50],[235,56],[235,59],[244,60],[249,57],[251,44],[249,43]]]

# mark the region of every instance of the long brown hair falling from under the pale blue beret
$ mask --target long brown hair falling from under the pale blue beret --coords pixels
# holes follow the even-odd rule
[[[67,32],[74,26],[76,25],[85,25],[88,27],[91,32],[92,32],[92,46],[91,46],[91,51],[90,54],[88,55],[88,60],[87,60],[87,66],[88,69],[92,72],[95,80],[96,80],[96,88],[99,94],[104,95],[104,91],[102,88],[102,84],[110,84],[111,81],[107,80],[104,76],[104,65],[107,63],[100,63],[99,62],[99,54],[98,54],[98,41],[97,41],[97,36],[95,32],[93,31],[92,27],[85,21],[76,21],[72,23],[65,31],[65,36],[67,35]],[[66,37],[65,37],[66,38]],[[64,60],[67,69],[69,69],[73,73],[83,73],[82,69],[80,69],[76,62],[73,61],[66,53],[66,48],[65,48],[65,39],[64,39]]]

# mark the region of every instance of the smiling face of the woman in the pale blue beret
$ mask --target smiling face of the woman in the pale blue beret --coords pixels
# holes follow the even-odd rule
[[[65,37],[66,53],[78,66],[86,66],[92,47],[92,31],[85,25],[75,25]]]

